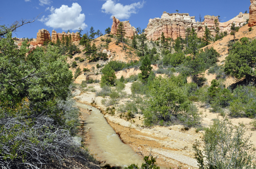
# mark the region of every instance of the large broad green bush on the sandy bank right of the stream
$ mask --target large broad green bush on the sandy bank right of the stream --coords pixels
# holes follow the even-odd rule
[[[199,123],[195,108],[190,105],[187,92],[179,82],[181,79],[180,76],[159,77],[152,82],[150,98],[147,100],[148,106],[142,110],[145,125],[152,125],[160,120],[165,122],[180,120],[188,126]]]

